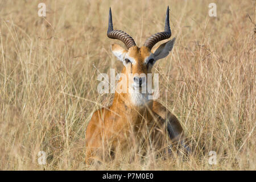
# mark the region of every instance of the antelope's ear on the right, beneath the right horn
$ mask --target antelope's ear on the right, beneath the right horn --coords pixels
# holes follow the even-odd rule
[[[170,53],[172,48],[174,47],[175,38],[169,40],[166,43],[161,44],[159,47],[152,49],[152,53],[155,56],[155,60],[162,59]]]

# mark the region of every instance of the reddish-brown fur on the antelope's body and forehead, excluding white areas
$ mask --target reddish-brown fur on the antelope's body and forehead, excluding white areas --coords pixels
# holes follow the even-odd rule
[[[128,54],[136,60],[136,64],[131,68],[124,67],[122,73],[151,73],[151,68],[144,64],[144,59],[150,53],[150,49],[146,47],[131,47]],[[109,156],[109,150],[116,152],[117,148],[121,148],[125,151],[134,141],[138,145],[142,141],[150,142],[143,138],[147,133],[146,129],[150,131],[154,148],[166,149],[166,121],[170,122],[174,129],[172,140],[180,139],[183,129],[179,121],[162,104],[150,101],[144,107],[135,107],[130,101],[129,93],[115,92],[113,104],[95,111],[90,119],[86,129],[86,162],[89,163],[90,159],[104,159]]]

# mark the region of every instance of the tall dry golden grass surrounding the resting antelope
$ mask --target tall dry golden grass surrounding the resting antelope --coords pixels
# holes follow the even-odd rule
[[[46,3],[46,18],[38,4]],[[209,3],[217,17],[209,17]],[[159,101],[179,118],[193,155],[184,160],[106,163],[100,169],[256,169],[255,1],[0,1],[0,169],[95,169],[86,166],[90,115],[109,105],[97,76],[122,63],[110,52],[114,28],[138,46],[163,31],[170,6],[174,49],[153,69]],[[249,16],[253,22],[251,22]],[[164,41],[163,41],[164,42]],[[163,43],[161,42],[161,43]],[[123,44],[122,44],[123,46]],[[45,151],[47,164],[38,164]],[[209,151],[217,165],[208,164]]]

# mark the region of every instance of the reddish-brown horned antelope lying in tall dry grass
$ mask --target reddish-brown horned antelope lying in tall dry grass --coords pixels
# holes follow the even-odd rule
[[[151,35],[141,48],[136,46],[134,39],[126,32],[113,29],[111,8],[107,35],[110,39],[121,40],[127,47],[124,49],[118,44],[112,44],[110,48],[122,61],[122,73],[127,77],[127,79],[120,78],[119,82],[126,81],[127,88],[133,91],[146,84],[147,74],[151,73],[152,66],[157,60],[168,56],[175,43],[173,38],[153,48],[156,43],[171,37],[169,7],[166,11],[164,31]],[[130,73],[133,75],[144,73],[146,76],[134,76],[129,84],[127,80]],[[144,152],[153,148],[168,154],[171,141],[171,143],[179,143],[185,151],[189,152],[183,129],[175,115],[159,102],[149,100],[147,92],[133,91],[115,92],[111,106],[98,109],[92,114],[85,137],[86,163],[93,160],[102,161],[104,158],[112,159],[117,152],[134,150],[136,147],[131,143],[144,147]],[[109,150],[106,150],[107,148]]]

